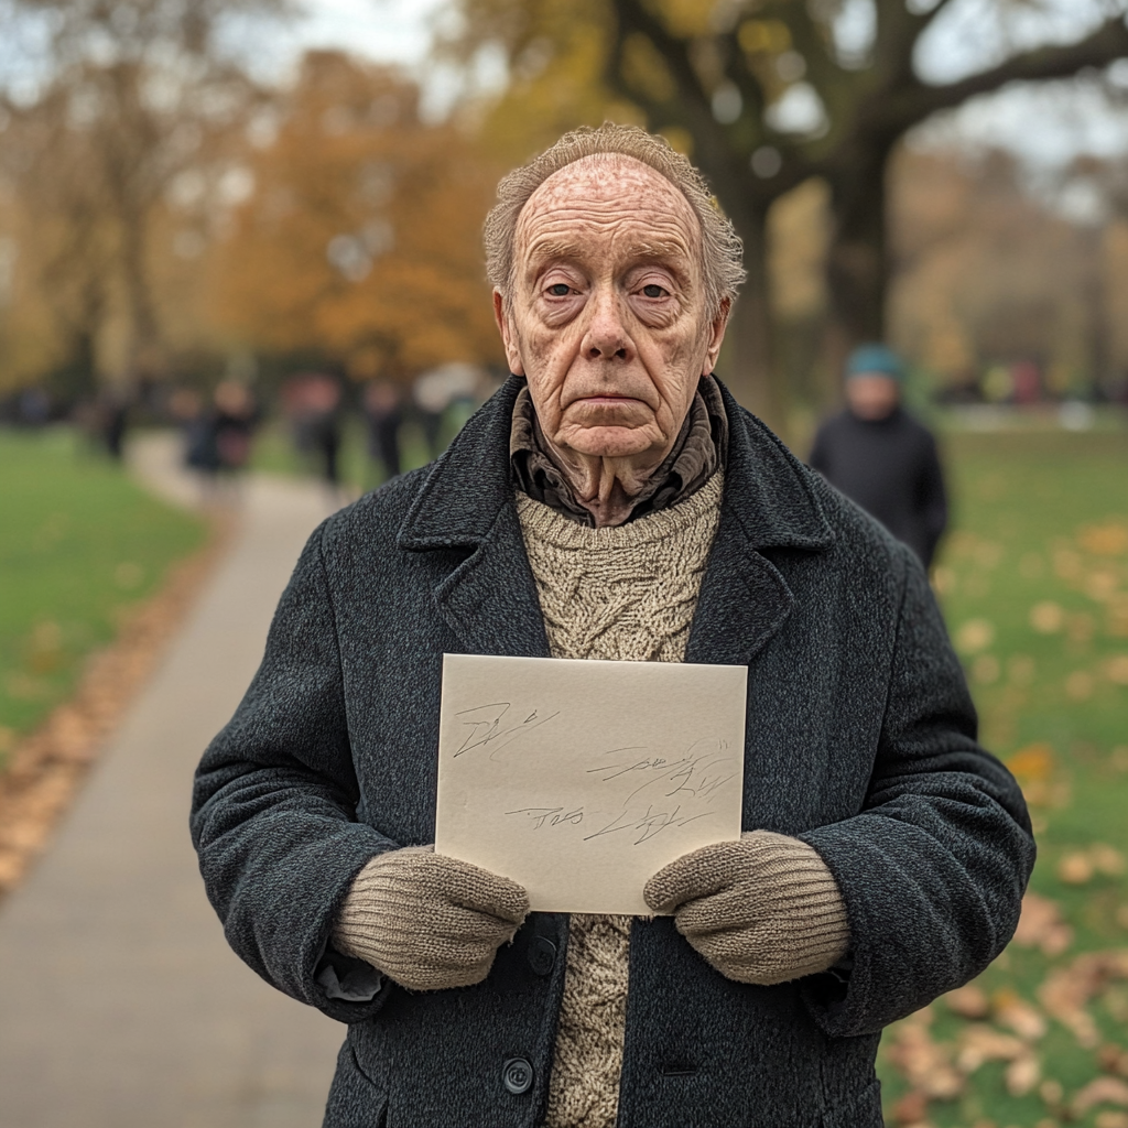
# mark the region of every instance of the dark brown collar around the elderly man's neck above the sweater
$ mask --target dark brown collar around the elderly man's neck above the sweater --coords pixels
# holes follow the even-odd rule
[[[650,476],[633,501],[627,521],[684,501],[724,467],[729,451],[729,418],[721,389],[712,376],[702,377],[697,394],[678,432],[673,449]],[[580,525],[594,528],[596,519],[580,504],[561,467],[553,460],[526,384],[513,405],[509,440],[513,486]]]

